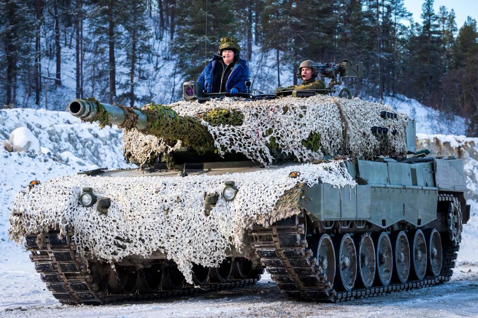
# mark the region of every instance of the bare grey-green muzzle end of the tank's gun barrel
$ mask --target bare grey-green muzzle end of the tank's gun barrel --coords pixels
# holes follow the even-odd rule
[[[103,106],[108,114],[108,124],[118,126],[123,126],[125,124],[127,116],[125,114],[125,107],[123,106],[110,105],[88,99],[73,99],[66,107],[66,110],[83,121],[94,122],[98,121],[98,118],[100,117],[99,105]],[[139,130],[146,129],[148,127],[147,116],[137,109],[129,109],[137,115],[137,121],[134,127]]]

